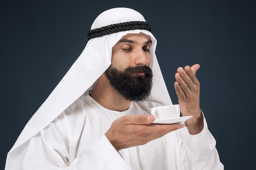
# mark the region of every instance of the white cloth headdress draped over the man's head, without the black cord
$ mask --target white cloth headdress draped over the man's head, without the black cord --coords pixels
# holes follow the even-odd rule
[[[91,29],[130,21],[146,22],[144,17],[133,9],[114,8],[101,13],[93,22]],[[94,84],[100,75],[102,75],[110,66],[112,46],[127,33],[139,32],[149,35],[152,40],[150,49],[152,62],[150,68],[152,68],[153,71],[154,85],[150,100],[159,102],[163,105],[172,104],[155,56],[157,41],[150,31],[136,29],[92,38],[88,41],[85,49],[63,77],[61,82],[59,82],[54,91],[52,91],[42,106],[40,106],[33,117],[31,117],[16,143],[9,151],[7,158],[15,157],[17,152],[22,152],[22,148],[26,146],[27,141],[29,141],[31,137],[45,128],[81,95],[88,94],[88,91],[93,89]]]

